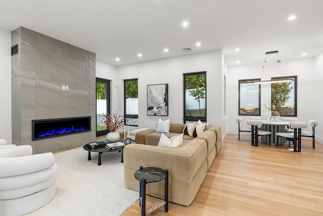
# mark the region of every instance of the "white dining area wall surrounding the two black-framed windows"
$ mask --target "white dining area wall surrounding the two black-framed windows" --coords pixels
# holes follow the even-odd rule
[[[317,119],[322,127],[322,106],[318,101],[323,100],[322,89],[322,54],[315,58],[304,58],[297,60],[282,61],[282,75],[297,77],[297,118],[299,121]],[[316,62],[314,64],[314,62]],[[316,66],[314,66],[316,65]],[[238,80],[259,78],[262,64],[242,65],[228,67],[227,76],[227,101],[228,101],[228,133],[238,133]],[[276,61],[267,62],[261,79],[271,79],[271,77],[281,76],[279,65]],[[263,105],[271,99],[271,84],[261,84],[261,110]],[[248,116],[240,116],[244,124],[249,118]],[[265,119],[265,112],[261,111],[261,118]],[[320,120],[319,120],[320,119]],[[311,132],[311,127],[307,127],[305,131]],[[323,141],[323,133],[321,128],[317,128],[316,139],[318,142]]]

